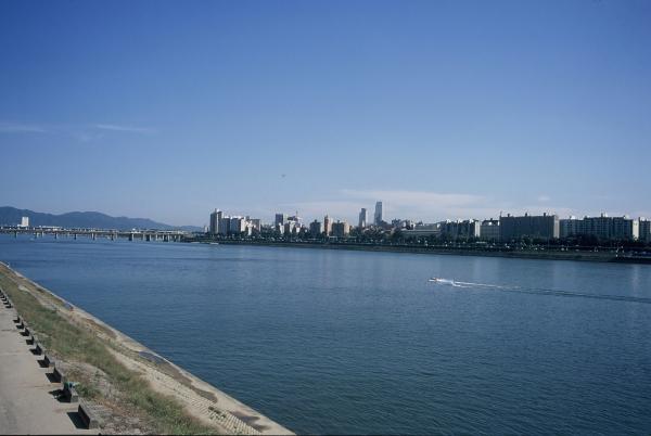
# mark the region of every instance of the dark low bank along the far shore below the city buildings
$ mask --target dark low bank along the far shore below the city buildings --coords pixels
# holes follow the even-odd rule
[[[212,244],[214,241],[193,241],[190,243]],[[620,262],[620,264],[649,264],[651,257],[622,256],[609,252],[573,252],[573,251],[498,251],[498,249],[477,249],[477,248],[457,248],[457,247],[426,247],[410,245],[367,245],[349,243],[311,243],[311,242],[278,242],[278,241],[233,241],[219,240],[219,244],[225,245],[261,245],[276,247],[295,247],[295,248],[320,248],[320,249],[346,249],[358,252],[390,252],[390,253],[412,253],[430,255],[448,256],[482,256],[482,257],[510,257],[519,259],[537,260],[578,260],[578,261],[599,261],[599,262]]]

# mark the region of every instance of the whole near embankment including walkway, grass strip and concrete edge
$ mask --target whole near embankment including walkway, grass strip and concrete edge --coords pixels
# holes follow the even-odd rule
[[[0,359],[7,361],[0,360],[0,433],[84,426],[84,413],[55,398],[63,387],[59,371],[78,383],[79,400],[100,423],[94,433],[291,434],[1,262],[0,287],[14,306],[0,317]],[[35,344],[27,348],[17,317],[52,364],[30,351]],[[28,420],[39,411],[41,418]]]

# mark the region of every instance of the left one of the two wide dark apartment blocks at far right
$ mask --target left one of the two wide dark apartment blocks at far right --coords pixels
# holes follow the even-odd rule
[[[557,215],[528,215],[523,217],[499,217],[500,241],[532,238],[551,240],[560,236],[560,223]]]

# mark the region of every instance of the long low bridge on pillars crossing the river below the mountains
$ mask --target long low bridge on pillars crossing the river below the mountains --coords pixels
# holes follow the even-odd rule
[[[180,242],[188,232],[179,230],[112,230],[112,229],[64,229],[49,227],[34,228],[16,228],[16,227],[0,227],[0,233],[13,234],[18,238],[18,234],[31,234],[35,239],[53,236],[54,239],[71,238],[88,238],[97,240],[98,238],[115,241],[118,238],[128,239],[129,241],[163,241],[163,242]]]

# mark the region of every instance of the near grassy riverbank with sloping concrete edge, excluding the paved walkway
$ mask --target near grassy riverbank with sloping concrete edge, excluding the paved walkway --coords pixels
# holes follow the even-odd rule
[[[101,433],[291,434],[1,262],[0,286],[80,396],[103,411]]]

